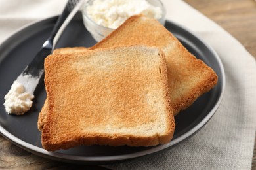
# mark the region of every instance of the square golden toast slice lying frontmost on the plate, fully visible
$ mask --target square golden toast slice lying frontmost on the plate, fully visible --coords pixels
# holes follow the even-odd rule
[[[83,145],[168,143],[175,121],[161,50],[126,46],[45,59],[49,151]]]

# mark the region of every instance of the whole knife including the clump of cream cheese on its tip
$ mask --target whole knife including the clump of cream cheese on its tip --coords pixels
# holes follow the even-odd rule
[[[32,107],[33,92],[44,72],[44,60],[51,54],[58,39],[70,20],[83,5],[83,0],[68,0],[62,14],[58,17],[49,38],[43,43],[24,71],[14,80],[5,95],[5,110],[9,114],[22,115]]]

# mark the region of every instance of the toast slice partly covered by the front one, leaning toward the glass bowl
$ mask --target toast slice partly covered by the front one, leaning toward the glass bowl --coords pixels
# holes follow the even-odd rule
[[[132,16],[90,49],[134,44],[157,46],[165,53],[171,106],[175,115],[217,84],[218,77],[213,69],[190,54],[157,20],[146,16]]]

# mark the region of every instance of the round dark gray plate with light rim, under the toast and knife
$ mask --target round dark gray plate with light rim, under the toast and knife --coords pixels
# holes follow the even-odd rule
[[[43,78],[35,90],[32,109],[24,116],[9,115],[5,112],[4,96],[11,84],[20,75],[24,67],[32,60],[47,39],[56,22],[56,17],[37,22],[12,35],[0,46],[0,133],[9,141],[39,156],[72,163],[102,164],[126,161],[140,156],[153,154],[181,143],[194,135],[216,112],[224,91],[224,69],[217,54],[196,35],[181,26],[167,21],[169,29],[197,58],[212,67],[219,76],[219,82],[213,90],[205,93],[191,107],[175,117],[176,129],[173,140],[154,147],[111,147],[79,146],[69,150],[47,152],[41,146],[41,133],[37,130],[37,117],[45,101]],[[81,13],[68,25],[58,47],[93,46],[95,41],[83,26]]]

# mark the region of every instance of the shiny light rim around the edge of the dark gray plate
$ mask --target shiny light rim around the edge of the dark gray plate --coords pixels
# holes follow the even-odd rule
[[[29,27],[31,27],[35,24],[41,24],[41,22],[48,22],[49,20],[56,20],[57,17],[58,16],[52,16],[49,18],[45,18],[43,20],[39,20],[36,22],[32,22],[30,24],[24,25],[23,27],[20,27],[20,29],[14,31],[14,33],[12,33],[9,37],[7,37],[7,39],[5,39],[0,44],[0,50],[1,50],[2,46],[5,46],[5,44],[8,41],[11,41],[11,39],[16,37],[16,35],[20,34],[20,32],[24,31],[25,29],[28,29]],[[213,56],[215,56],[215,59],[217,61],[217,64],[219,66],[220,73],[221,73],[221,78],[222,78],[221,79],[221,89],[220,89],[221,92],[220,92],[219,98],[217,99],[217,102],[214,104],[213,108],[209,111],[207,116],[205,116],[203,118],[203,120],[200,121],[192,129],[186,131],[186,133],[177,137],[176,139],[173,139],[171,142],[169,142],[167,144],[161,144],[159,146],[149,148],[148,150],[142,150],[142,151],[134,152],[131,154],[120,154],[120,155],[114,155],[114,156],[74,156],[74,155],[67,155],[67,154],[59,153],[59,152],[48,152],[47,150],[44,150],[43,148],[40,148],[40,147],[35,146],[30,143],[26,143],[25,141],[22,141],[18,137],[9,133],[9,131],[7,131],[4,127],[2,127],[1,124],[0,124],[0,134],[3,137],[5,137],[5,139],[11,141],[11,143],[14,143],[17,146],[20,146],[21,148],[23,148],[24,150],[27,150],[28,152],[31,152],[32,154],[43,156],[45,158],[50,158],[51,160],[70,161],[70,162],[75,161],[75,162],[79,162],[79,163],[93,163],[93,164],[99,163],[99,162],[100,163],[112,163],[114,161],[125,161],[125,160],[131,160],[134,158],[139,158],[141,156],[147,156],[149,154],[154,154],[156,152],[160,152],[161,150],[166,150],[167,148],[172,148],[176,144],[179,144],[182,141],[185,141],[189,137],[192,137],[192,135],[194,135],[197,131],[199,131],[212,118],[212,116],[215,114],[215,112],[221,105],[221,101],[223,99],[224,89],[225,89],[225,85],[226,85],[226,76],[225,76],[224,67],[223,67],[221,58],[219,58],[219,55],[217,54],[217,52],[215,52],[215,50],[207,42],[205,42],[199,35],[197,35],[193,31],[190,31],[187,27],[184,27],[184,26],[177,24],[173,21],[166,20],[166,23],[168,23],[168,22],[171,25],[180,27],[183,31],[186,31],[187,33],[192,35],[192,37],[194,39],[197,39],[198,41],[202,42],[206,46],[206,48],[208,48],[208,50],[213,54]],[[1,59],[0,59],[0,61],[1,61]]]

